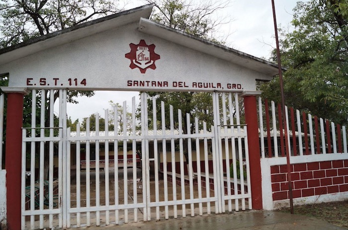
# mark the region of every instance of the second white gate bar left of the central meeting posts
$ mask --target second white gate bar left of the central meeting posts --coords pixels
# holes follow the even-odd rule
[[[123,102],[123,136],[127,137],[127,102]],[[128,169],[127,169],[127,140],[123,140],[123,197],[124,197],[124,205],[128,204]],[[128,223],[128,209],[124,209],[124,223]]]

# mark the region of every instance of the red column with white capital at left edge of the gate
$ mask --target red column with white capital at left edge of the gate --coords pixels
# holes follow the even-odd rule
[[[20,230],[20,186],[23,125],[23,88],[1,88],[7,93],[6,116],[6,206],[8,230]]]

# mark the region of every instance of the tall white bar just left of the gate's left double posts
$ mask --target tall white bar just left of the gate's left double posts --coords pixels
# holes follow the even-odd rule
[[[54,137],[54,90],[50,90],[50,137]],[[53,210],[53,170],[54,170],[54,142],[50,141],[49,144],[49,209]],[[53,215],[49,215],[49,227],[50,229],[53,228]]]

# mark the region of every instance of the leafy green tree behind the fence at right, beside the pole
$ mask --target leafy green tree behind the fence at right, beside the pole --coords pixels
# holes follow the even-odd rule
[[[348,1],[299,1],[292,25],[295,30],[282,33],[280,41],[286,104],[347,124]],[[280,101],[278,77],[261,90]]]

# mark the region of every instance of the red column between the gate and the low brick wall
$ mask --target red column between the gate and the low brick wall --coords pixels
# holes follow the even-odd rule
[[[244,97],[245,120],[248,129],[252,202],[253,209],[255,210],[262,209],[261,154],[256,100],[256,95],[259,94],[261,94],[260,91],[247,91],[242,94]]]

